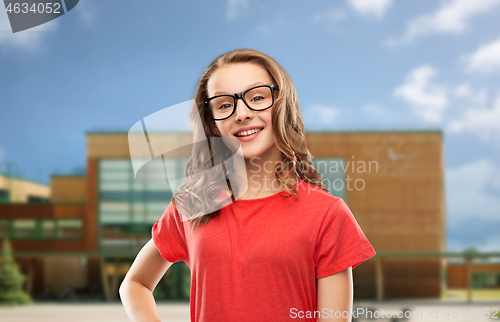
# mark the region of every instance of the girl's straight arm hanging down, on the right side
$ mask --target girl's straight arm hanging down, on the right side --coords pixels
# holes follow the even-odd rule
[[[326,321],[351,321],[353,285],[352,268],[348,267],[336,274],[318,278],[317,299],[320,317],[318,322]],[[323,309],[326,308],[324,311]],[[335,312],[337,312],[335,317]],[[347,311],[341,317],[342,312]],[[326,317],[328,315],[328,317]]]

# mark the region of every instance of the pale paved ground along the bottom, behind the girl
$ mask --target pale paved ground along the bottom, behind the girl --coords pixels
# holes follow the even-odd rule
[[[442,302],[435,300],[412,300],[412,301],[386,301],[382,303],[360,301],[354,303],[355,308],[363,309],[364,313],[358,314],[358,321],[390,321],[387,318],[388,311],[392,314],[402,311],[404,308],[411,310],[407,322],[481,322],[500,321],[500,319],[488,319],[485,317],[485,308],[492,312],[494,308],[500,308],[500,301],[477,302],[467,304],[465,302]],[[164,322],[190,322],[188,303],[158,303],[158,314]],[[375,315],[374,319],[368,319],[366,311],[371,309]],[[454,310],[455,309],[455,310]],[[361,312],[361,311],[358,311]],[[377,312],[377,313],[376,313]],[[475,316],[470,316],[474,313]],[[408,313],[410,314],[410,313]],[[448,315],[447,315],[448,314]],[[453,314],[456,314],[454,317]],[[463,315],[463,317],[460,317]],[[482,316],[482,317],[481,317]],[[299,318],[290,319],[299,321]],[[0,307],[1,322],[128,322],[127,315],[121,303],[42,303],[30,306]]]

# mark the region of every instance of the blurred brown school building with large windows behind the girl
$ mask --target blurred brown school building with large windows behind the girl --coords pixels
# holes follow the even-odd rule
[[[161,135],[166,142],[192,144],[190,133]],[[33,295],[71,288],[116,299],[123,276],[172,197],[168,185],[135,179],[127,132],[88,132],[86,140],[85,175],[52,176],[50,187],[8,176],[0,180],[0,237],[10,238]],[[306,140],[327,187],[346,201],[378,254],[445,252],[441,131],[308,132]],[[182,149],[170,154],[167,171],[183,174],[188,156]],[[50,202],[27,202],[30,196],[45,200],[49,191]],[[18,199],[9,199],[14,196]],[[176,276],[189,278],[186,269]],[[439,298],[445,276],[440,257],[377,255],[353,270],[354,294],[356,299]],[[169,287],[185,289],[186,283]]]

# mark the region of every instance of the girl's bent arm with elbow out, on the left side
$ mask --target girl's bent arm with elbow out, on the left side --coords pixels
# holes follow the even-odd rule
[[[130,321],[160,321],[153,290],[171,265],[160,255],[153,239],[137,254],[119,290]]]

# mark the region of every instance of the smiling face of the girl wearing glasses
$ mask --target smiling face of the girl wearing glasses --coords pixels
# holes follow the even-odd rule
[[[262,67],[252,63],[238,63],[217,69],[207,83],[208,97],[221,94],[234,94],[257,85],[272,84],[269,73]],[[263,111],[249,109],[243,100],[236,102],[236,111],[225,120],[215,121],[221,137],[230,137],[240,141],[245,159],[260,157],[271,158],[278,151],[274,141],[271,111],[273,107]],[[247,137],[236,136],[242,130],[262,129]]]

